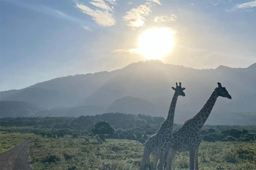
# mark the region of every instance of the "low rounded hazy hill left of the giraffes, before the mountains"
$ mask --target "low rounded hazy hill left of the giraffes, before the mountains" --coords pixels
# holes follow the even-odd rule
[[[106,110],[110,112],[123,112],[127,114],[157,115],[157,107],[144,99],[126,96],[114,101]]]

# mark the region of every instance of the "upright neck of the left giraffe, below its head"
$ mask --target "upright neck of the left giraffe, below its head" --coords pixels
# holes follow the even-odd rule
[[[174,118],[174,112],[175,112],[178,96],[179,95],[175,92],[172,98],[172,102],[169,108],[167,118],[166,118],[166,122],[168,125],[167,128],[170,130],[170,132],[172,132],[172,128],[173,128],[173,118]]]

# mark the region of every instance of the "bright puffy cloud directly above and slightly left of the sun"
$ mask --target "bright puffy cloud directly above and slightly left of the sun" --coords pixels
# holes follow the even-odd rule
[[[133,8],[130,11],[126,13],[126,15],[123,17],[123,20],[126,21],[126,24],[129,27],[132,27],[133,29],[138,27],[143,27],[146,22],[146,18],[150,13],[152,6],[152,3],[157,3],[161,5],[159,0],[147,0],[150,2],[145,3],[144,5],[140,5],[137,8]]]

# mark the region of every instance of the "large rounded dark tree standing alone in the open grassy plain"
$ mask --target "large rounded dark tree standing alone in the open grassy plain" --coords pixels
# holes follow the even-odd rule
[[[115,128],[109,122],[104,121],[96,123],[92,128],[93,134],[113,134],[114,131]]]

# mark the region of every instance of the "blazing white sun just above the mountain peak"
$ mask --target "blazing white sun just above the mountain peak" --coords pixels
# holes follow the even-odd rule
[[[138,52],[148,59],[161,59],[173,48],[174,31],[169,28],[152,28],[139,38]]]

